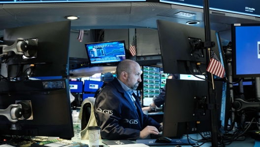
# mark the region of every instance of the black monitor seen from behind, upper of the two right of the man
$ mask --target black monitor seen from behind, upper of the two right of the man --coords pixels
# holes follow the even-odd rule
[[[194,74],[200,74],[196,63],[201,63],[201,71],[206,72],[206,51],[198,49],[196,42],[205,40],[204,28],[157,20],[159,41],[162,53],[162,66],[164,73],[170,74],[191,74],[187,61],[190,62],[190,70]],[[219,56],[216,32],[211,30],[211,40],[215,41],[216,46],[213,51]],[[193,50],[193,46],[194,50]]]

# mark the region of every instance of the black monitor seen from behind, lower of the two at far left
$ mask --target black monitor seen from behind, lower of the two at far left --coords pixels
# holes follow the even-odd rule
[[[32,116],[14,123],[0,115],[0,135],[74,136],[68,79],[0,82],[0,110],[20,101],[31,104]]]

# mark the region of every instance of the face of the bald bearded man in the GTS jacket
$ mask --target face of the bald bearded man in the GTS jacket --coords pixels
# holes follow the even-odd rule
[[[138,87],[138,84],[142,81],[141,79],[141,68],[140,66],[136,63],[133,66],[130,67],[131,72],[128,73],[127,77],[127,86],[131,90],[136,90]]]

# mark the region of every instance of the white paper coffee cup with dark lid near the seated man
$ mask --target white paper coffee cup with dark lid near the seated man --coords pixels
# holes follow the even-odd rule
[[[99,126],[89,126],[88,132],[89,132],[89,147],[98,146],[100,127]]]

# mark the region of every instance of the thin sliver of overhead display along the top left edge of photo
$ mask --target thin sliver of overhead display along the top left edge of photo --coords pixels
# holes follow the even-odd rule
[[[44,2],[108,2],[108,1],[146,1],[146,0],[0,0],[0,3],[44,3]]]

